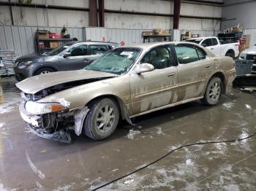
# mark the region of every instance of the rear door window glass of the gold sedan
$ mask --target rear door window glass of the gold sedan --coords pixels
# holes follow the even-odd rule
[[[189,45],[178,45],[175,47],[178,63],[186,64],[199,61],[195,47]]]

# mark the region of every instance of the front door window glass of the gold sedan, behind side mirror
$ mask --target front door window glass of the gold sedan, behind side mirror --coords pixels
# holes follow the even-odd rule
[[[170,49],[168,47],[155,47],[146,53],[140,63],[151,63],[155,69],[170,67]]]

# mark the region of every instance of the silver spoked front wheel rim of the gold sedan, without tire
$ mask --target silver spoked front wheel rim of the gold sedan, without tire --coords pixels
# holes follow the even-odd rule
[[[97,114],[97,128],[101,133],[105,133],[113,126],[115,112],[111,106],[104,106]]]

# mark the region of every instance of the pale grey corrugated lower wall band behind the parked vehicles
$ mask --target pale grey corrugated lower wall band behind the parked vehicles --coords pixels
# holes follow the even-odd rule
[[[39,27],[53,32],[60,33],[61,27]],[[34,34],[37,27],[28,26],[0,26],[0,47],[2,50],[15,50],[17,55],[26,55],[34,52]],[[92,40],[118,42],[124,41],[125,44],[138,44],[143,42],[142,31],[148,29],[118,29],[118,28],[68,28],[71,37],[77,37],[78,40]],[[192,34],[202,36],[217,36],[221,31],[191,31]],[[244,34],[250,34],[250,47],[256,43],[256,29],[246,29]]]

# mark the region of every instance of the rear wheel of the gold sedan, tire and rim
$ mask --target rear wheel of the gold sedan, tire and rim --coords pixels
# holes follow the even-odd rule
[[[217,104],[222,95],[222,87],[222,79],[219,77],[211,78],[206,87],[203,103],[210,106]]]

